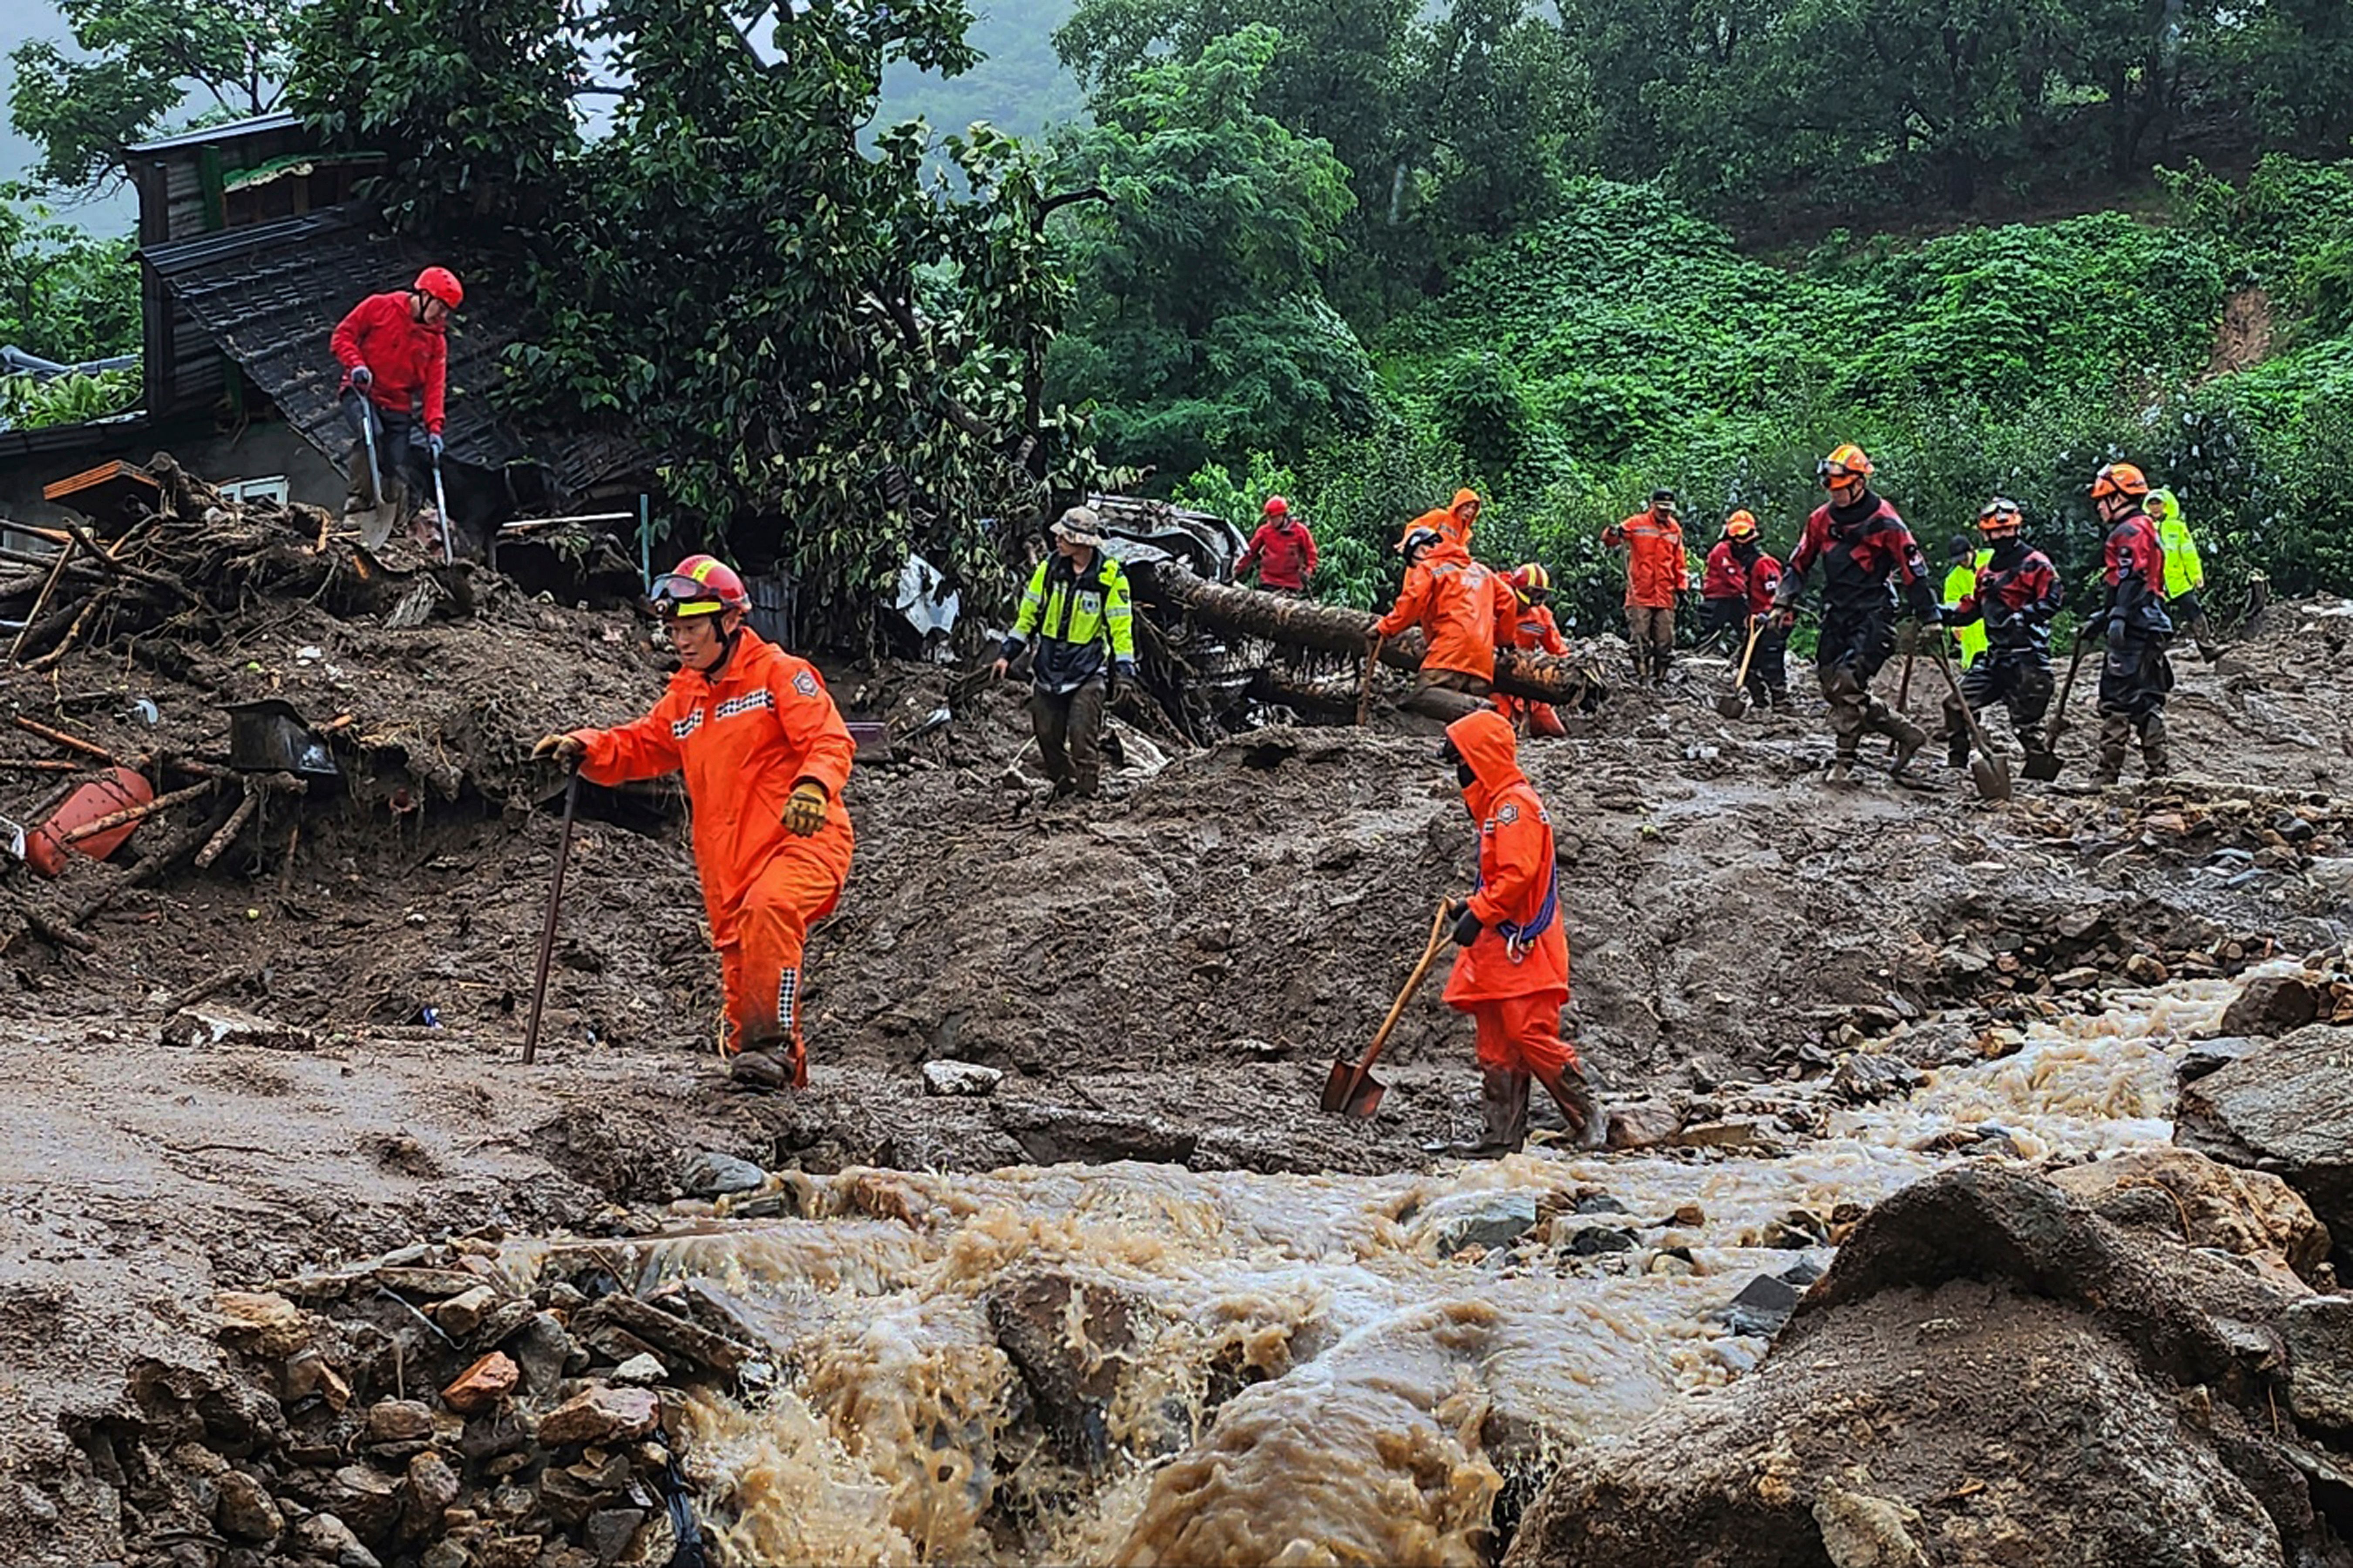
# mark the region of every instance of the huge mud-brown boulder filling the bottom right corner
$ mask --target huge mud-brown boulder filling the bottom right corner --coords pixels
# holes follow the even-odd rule
[[[1565,1467],[1506,1568],[2346,1563],[2275,1439],[2285,1272],[1965,1168],[1880,1204],[1765,1366]]]

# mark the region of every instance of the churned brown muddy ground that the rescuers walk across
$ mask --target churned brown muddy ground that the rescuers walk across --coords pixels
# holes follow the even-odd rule
[[[696,1150],[807,1168],[1386,1171],[1473,1126],[1468,1032],[1433,994],[1398,1030],[1377,1121],[1313,1110],[1475,863],[1419,722],[1169,748],[1108,802],[1042,806],[1007,776],[1026,722],[1005,686],[852,785],[859,858],[812,950],[807,1095],[744,1098],[715,1072],[715,964],[666,785],[584,792],[525,1070],[560,792],[525,752],[640,710],[664,665],[626,611],[492,574],[459,588],[407,630],[261,602],[224,637],[94,642],[0,684],[12,712],[125,755],[219,757],[216,708],[249,696],[315,724],[353,715],[346,788],[273,799],[212,870],[120,893],[87,922],[89,952],[40,929],[125,870],[12,872],[0,1472],[19,1497],[0,1500],[0,1559],[106,1559],[104,1500],[59,1413],[104,1403],[132,1356],[207,1354],[216,1286],[475,1227],[626,1225],[624,1208],[678,1194]],[[2165,788],[2085,788],[2080,689],[2068,776],[2000,809],[1934,769],[1922,788],[1828,790],[1817,703],[1725,722],[1697,661],[1664,696],[1617,693],[1529,755],[1562,837],[1588,1060],[1621,1095],[1795,1077],[1840,1044],[1904,1037],[1920,1011],[2059,1006],[2068,969],[2186,952],[2231,969],[2346,940],[2348,635],[2344,607],[2275,607],[2224,665],[2186,661],[2172,712],[2188,778]],[[852,717],[901,733],[948,691],[922,665],[828,675]],[[0,750],[61,755],[14,731]],[[54,783],[0,780],[9,816]],[[172,832],[151,823],[132,853]],[[304,1034],[160,1044],[167,1004],[205,983]],[[925,1098],[934,1058],[1005,1079],[991,1098]]]

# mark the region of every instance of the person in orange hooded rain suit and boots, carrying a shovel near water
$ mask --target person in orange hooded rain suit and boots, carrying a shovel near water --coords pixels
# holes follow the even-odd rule
[[[1454,905],[1454,973],[1447,1006],[1478,1025],[1482,1131],[1452,1152],[1492,1159],[1527,1140],[1527,1086],[1560,1105],[1579,1147],[1607,1135],[1577,1046],[1560,1039],[1569,1001],[1569,938],[1560,926],[1553,818],[1520,771],[1511,724],[1473,712],[1447,724],[1438,752],[1454,764],[1478,823],[1478,886]]]

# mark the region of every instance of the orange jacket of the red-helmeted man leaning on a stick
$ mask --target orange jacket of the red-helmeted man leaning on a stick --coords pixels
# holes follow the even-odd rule
[[[654,710],[616,729],[572,731],[588,752],[581,776],[614,785],[685,771],[694,804],[694,865],[704,877],[711,940],[736,940],[736,914],[760,875],[784,853],[814,858],[833,872],[833,898],[812,910],[831,912],[849,879],[849,809],[842,788],[856,743],[826,682],[751,628],[718,679],[680,670]],[[814,778],[833,799],[826,825],[793,837],[784,804],[793,785]]]

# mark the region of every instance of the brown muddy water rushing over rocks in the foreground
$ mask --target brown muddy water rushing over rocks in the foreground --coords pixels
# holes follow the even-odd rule
[[[809,1218],[598,1248],[718,1286],[784,1352],[769,1392],[694,1401],[720,1561],[1475,1563],[1508,1479],[1758,1363],[1765,1340],[1720,1309],[1831,1258],[1765,1244],[1791,1241],[1791,1211],[1868,1206],[1986,1124],[2024,1161],[2162,1145],[2181,1041],[2231,994],[2113,992],[1906,1100],[1824,1110],[1786,1157],[849,1171],[791,1178]],[[1539,1215],[1515,1248],[1442,1255],[1449,1225],[1513,1194]],[[1584,1255],[1588,1227],[1635,1246]],[[1075,1434],[1040,1422],[991,1316],[1038,1279],[1080,1286],[1045,1298],[1099,1394]]]

